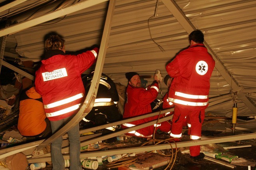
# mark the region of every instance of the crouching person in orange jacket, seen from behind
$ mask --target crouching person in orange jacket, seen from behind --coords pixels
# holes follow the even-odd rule
[[[45,138],[51,135],[51,124],[46,118],[42,96],[35,87],[21,91],[18,130],[22,136]]]

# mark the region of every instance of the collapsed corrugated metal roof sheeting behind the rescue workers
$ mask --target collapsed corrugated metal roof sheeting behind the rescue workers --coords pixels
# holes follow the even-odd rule
[[[2,65],[33,79],[9,65],[7,58],[40,61],[44,36],[50,32],[61,34],[70,52],[100,45],[108,3],[1,0],[0,21],[10,22],[0,30],[0,36],[6,36]],[[256,116],[254,0],[117,0],[102,72],[123,85],[127,84],[124,73],[130,71],[153,75],[160,69],[164,77],[165,65],[189,45],[193,29],[204,33],[216,62],[210,79],[210,103],[215,107],[210,112],[231,117],[237,102],[238,116]],[[167,90],[161,83],[158,97]]]

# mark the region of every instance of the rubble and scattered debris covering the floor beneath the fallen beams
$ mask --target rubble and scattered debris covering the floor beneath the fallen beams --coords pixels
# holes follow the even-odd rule
[[[207,115],[202,127],[202,139],[214,138],[221,136],[231,136],[231,119],[226,117],[217,117],[214,115]],[[239,128],[238,128],[239,129]],[[241,128],[240,128],[241,129]],[[251,133],[250,131],[237,130],[236,134]],[[86,133],[83,135],[90,135],[97,132]],[[189,141],[189,136],[186,134],[186,129],[182,132],[181,141]],[[16,146],[19,143],[26,142],[26,137],[19,134],[15,126],[11,129],[1,132],[1,149]],[[92,151],[105,151],[112,149],[139,147],[147,143],[145,138],[120,135],[112,137],[104,141],[88,144],[81,147],[81,153]],[[151,141],[152,142],[152,141]],[[225,142],[218,144],[207,144],[201,146],[201,151],[205,154],[205,159],[201,161],[193,161],[189,156],[188,148],[179,148],[179,151],[164,149],[153,152],[130,153],[129,155],[104,155],[100,157],[89,157],[81,159],[81,166],[91,166],[90,168],[98,170],[138,170],[138,169],[152,169],[154,170],[228,170],[239,169],[247,170],[248,166],[254,170],[256,164],[256,139],[239,140],[233,142]],[[50,152],[50,148],[46,151]],[[22,153],[16,153],[7,156],[0,163],[1,170],[51,170],[51,162],[31,163],[28,164],[26,160],[13,160],[19,155],[19,158],[24,158]],[[26,156],[26,155],[25,155]],[[9,163],[7,163],[7,159]],[[88,161],[90,160],[90,161]],[[19,162],[21,161],[21,162]],[[25,165],[26,168],[18,169],[11,164]],[[27,165],[26,165],[27,163]],[[16,165],[15,164],[15,165]],[[2,167],[1,167],[2,166]],[[69,160],[65,160],[66,168],[69,167]],[[16,168],[16,169],[15,169]],[[89,167],[87,167],[89,168]]]

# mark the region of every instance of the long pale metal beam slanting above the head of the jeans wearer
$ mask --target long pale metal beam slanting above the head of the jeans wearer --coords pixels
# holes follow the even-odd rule
[[[44,23],[46,21],[51,21],[51,20],[56,19],[58,17],[62,17],[64,15],[71,14],[73,12],[76,12],[76,11],[79,11],[79,10],[82,10],[82,9],[86,9],[88,7],[97,5],[98,3],[102,3],[102,2],[105,2],[105,1],[108,1],[108,0],[86,0],[84,2],[76,3],[75,5],[72,5],[70,7],[56,10],[54,12],[48,13],[48,14],[43,15],[41,17],[37,17],[37,18],[32,19],[30,21],[21,22],[20,24],[16,24],[14,26],[11,26],[11,27],[8,27],[8,28],[5,28],[5,29],[1,29],[0,30],[0,37],[4,36],[4,35],[7,35],[7,34],[17,33],[21,30],[26,29],[26,28],[36,26],[36,25]]]

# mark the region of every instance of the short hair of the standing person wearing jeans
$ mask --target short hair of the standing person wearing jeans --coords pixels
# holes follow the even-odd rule
[[[58,35],[51,35],[44,42],[46,51],[63,49],[65,40]]]

